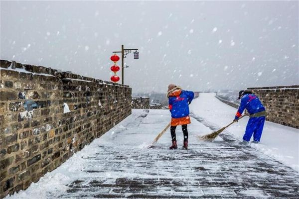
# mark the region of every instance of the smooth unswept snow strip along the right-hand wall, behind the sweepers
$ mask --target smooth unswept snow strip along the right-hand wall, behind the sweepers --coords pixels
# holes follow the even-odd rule
[[[199,98],[190,104],[190,111],[215,126],[223,127],[232,122],[237,109],[217,100],[215,95],[215,93],[201,93]],[[249,117],[240,119],[226,132],[242,141],[248,119]],[[298,129],[266,121],[261,142],[250,145],[299,172]]]

